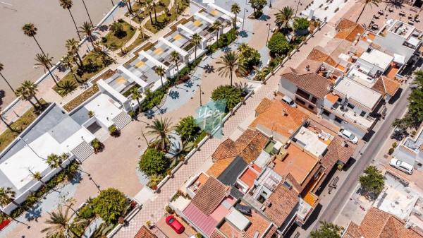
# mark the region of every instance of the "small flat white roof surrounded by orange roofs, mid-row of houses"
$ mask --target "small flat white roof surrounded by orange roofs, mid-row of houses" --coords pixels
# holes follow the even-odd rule
[[[309,151],[309,153],[312,153],[316,157],[322,155],[328,147],[326,143],[320,141],[319,136],[317,136],[316,133],[310,131],[304,126],[300,128],[300,131],[298,131],[294,138],[297,139],[297,142],[300,143],[305,150]]]

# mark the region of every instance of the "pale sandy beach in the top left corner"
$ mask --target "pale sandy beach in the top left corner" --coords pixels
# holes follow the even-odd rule
[[[85,0],[85,4],[94,25],[112,8],[110,0]],[[88,21],[82,0],[73,0],[71,11],[78,26]],[[39,48],[31,37],[23,35],[25,23],[34,23],[38,28],[37,40],[44,52],[54,57],[54,63],[66,53],[67,39],[75,37],[78,40],[71,16],[59,6],[58,0],[1,0],[0,63],[4,64],[1,73],[13,87],[25,80],[36,81],[44,73],[44,69],[34,67]],[[0,105],[5,107],[14,98],[0,78]]]

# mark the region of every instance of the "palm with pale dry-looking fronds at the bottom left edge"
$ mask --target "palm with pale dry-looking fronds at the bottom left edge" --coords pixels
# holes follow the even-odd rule
[[[45,222],[50,225],[47,228],[41,230],[42,233],[47,232],[47,237],[78,237],[73,231],[71,225],[81,224],[86,220],[71,220],[73,215],[69,215],[69,207],[63,210],[62,206],[59,205],[57,212],[48,213],[50,218]]]

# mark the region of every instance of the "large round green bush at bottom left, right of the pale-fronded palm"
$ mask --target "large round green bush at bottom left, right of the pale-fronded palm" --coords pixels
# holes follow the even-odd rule
[[[105,189],[92,200],[94,213],[105,222],[115,224],[128,206],[125,194],[114,188]]]

